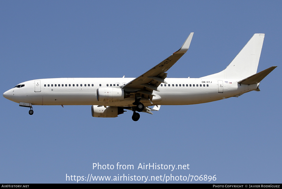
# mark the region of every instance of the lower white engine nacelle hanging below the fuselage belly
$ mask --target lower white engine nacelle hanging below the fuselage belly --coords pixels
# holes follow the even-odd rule
[[[115,106],[96,106],[91,107],[92,117],[118,117],[118,115],[123,114],[124,110],[121,107]]]

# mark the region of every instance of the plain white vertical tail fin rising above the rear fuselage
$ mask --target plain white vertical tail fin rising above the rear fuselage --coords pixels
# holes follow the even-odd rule
[[[203,78],[225,78],[242,80],[257,73],[259,57],[265,34],[254,34],[232,62],[221,72]]]

